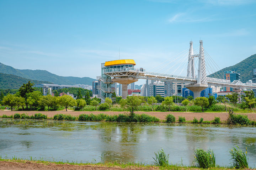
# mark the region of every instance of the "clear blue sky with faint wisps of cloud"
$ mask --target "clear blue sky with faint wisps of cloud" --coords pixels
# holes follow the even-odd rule
[[[255,9],[255,0],[0,0],[0,62],[96,78],[119,48],[150,70],[201,39],[224,68],[256,53]]]

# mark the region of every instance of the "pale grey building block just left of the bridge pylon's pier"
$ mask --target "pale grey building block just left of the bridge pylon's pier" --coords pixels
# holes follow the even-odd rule
[[[164,83],[165,97],[182,96],[182,88],[185,88],[185,86],[186,86],[185,83],[165,81]]]

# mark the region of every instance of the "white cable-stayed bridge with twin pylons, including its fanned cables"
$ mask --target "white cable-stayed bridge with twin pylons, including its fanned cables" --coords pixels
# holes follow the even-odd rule
[[[174,81],[179,83],[186,83],[186,88],[190,89],[194,92],[194,97],[199,97],[200,92],[208,87],[208,85],[213,86],[223,86],[223,87],[232,87],[234,89],[256,89],[256,83],[242,83],[240,80],[235,80],[230,82],[230,80],[223,79],[224,73],[222,75],[215,75],[216,69],[218,68],[218,64],[206,53],[207,58],[205,57],[205,51],[203,48],[203,41],[200,40],[199,49],[193,49],[193,42],[190,41],[190,48],[187,52],[182,52],[181,55],[186,56],[187,61],[187,75],[175,75],[175,74],[166,74],[166,73],[157,73],[157,72],[146,72],[143,68],[134,68],[134,67],[123,67],[123,68],[105,68],[103,69],[103,73],[112,77],[112,81],[120,83],[120,84],[130,84],[138,79],[149,79],[149,80],[161,80],[161,81]],[[188,55],[186,55],[188,54]],[[180,66],[182,64],[181,61],[185,61],[184,58],[180,56],[176,56],[175,58],[171,59],[171,62],[174,60],[178,60],[175,64],[179,65],[176,70],[179,71]],[[163,62],[164,66],[166,67],[166,61]],[[207,66],[206,66],[207,65]],[[173,66],[169,66],[172,68]],[[169,69],[170,69],[169,68]],[[180,73],[184,70],[185,66],[183,66],[182,70],[179,71]],[[175,70],[175,71],[176,71]],[[197,70],[197,74],[196,74]],[[213,73],[215,77],[212,78],[207,77],[207,71],[209,74]],[[166,72],[166,71],[165,71]],[[126,88],[123,88],[123,98],[126,98]]]

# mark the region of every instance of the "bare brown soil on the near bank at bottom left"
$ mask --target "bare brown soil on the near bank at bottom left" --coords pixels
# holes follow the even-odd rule
[[[107,166],[98,166],[98,165],[69,165],[69,164],[42,164],[34,163],[31,161],[21,162],[9,162],[9,161],[0,161],[0,170],[142,170],[149,169],[153,170],[156,167],[149,168],[138,168],[138,167],[107,167]],[[158,168],[157,168],[158,169]]]

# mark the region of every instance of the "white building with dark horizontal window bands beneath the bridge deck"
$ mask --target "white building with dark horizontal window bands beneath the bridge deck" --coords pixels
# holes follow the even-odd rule
[[[149,96],[160,95],[164,97],[164,82],[155,81],[149,84]]]

